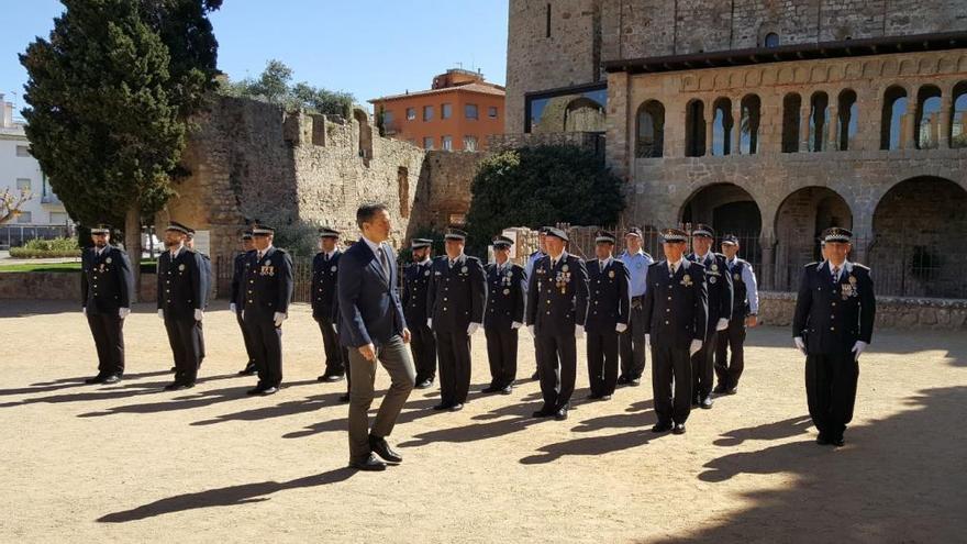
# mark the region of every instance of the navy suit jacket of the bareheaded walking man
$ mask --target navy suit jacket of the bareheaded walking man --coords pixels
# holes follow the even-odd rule
[[[336,292],[340,343],[348,347],[380,346],[403,333],[407,320],[397,289],[397,259],[388,244],[389,277],[365,240],[340,257]]]

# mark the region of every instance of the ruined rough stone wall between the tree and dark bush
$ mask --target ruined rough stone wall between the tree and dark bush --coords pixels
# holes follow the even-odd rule
[[[214,256],[233,255],[247,222],[280,211],[354,238],[363,202],[390,207],[391,242],[400,246],[420,227],[463,222],[480,159],[380,137],[358,109],[344,120],[214,97],[197,121],[182,160],[190,175],[155,224],[193,226]]]

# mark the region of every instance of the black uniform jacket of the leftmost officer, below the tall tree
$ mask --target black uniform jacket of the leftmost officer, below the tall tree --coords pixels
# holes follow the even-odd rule
[[[134,276],[126,253],[109,245],[98,256],[93,248],[88,248],[80,263],[80,303],[87,313],[118,315],[119,308],[131,308]]]

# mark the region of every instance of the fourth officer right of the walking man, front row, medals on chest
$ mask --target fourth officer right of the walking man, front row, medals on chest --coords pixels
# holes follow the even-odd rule
[[[535,418],[567,419],[577,374],[577,338],[585,336],[588,270],[568,254],[567,233],[547,229],[547,255],[534,265],[527,287],[527,329],[537,345],[544,406]]]

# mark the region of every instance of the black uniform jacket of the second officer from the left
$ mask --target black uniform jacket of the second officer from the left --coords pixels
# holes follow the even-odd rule
[[[173,319],[194,319],[204,309],[204,263],[197,252],[184,247],[178,256],[165,251],[158,257],[158,309]]]

